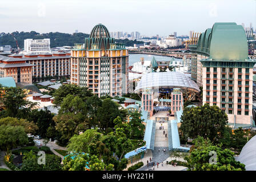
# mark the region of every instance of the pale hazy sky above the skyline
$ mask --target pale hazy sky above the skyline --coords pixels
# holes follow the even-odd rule
[[[0,4],[0,32],[89,34],[95,24],[110,32],[167,36],[203,32],[215,22],[253,23],[255,0],[8,0]]]

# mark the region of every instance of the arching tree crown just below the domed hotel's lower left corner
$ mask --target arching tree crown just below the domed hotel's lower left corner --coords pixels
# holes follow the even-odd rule
[[[61,85],[53,95],[54,104],[56,106],[60,106],[63,99],[69,94],[72,94],[72,96],[78,96],[84,102],[87,100],[88,97],[93,96],[91,90],[86,87],[80,87],[74,84]]]

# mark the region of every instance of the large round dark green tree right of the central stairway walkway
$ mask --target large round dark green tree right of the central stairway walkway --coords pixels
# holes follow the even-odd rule
[[[218,133],[222,133],[227,124],[227,114],[223,113],[218,106],[203,106],[185,108],[181,116],[181,131],[187,138],[203,138],[214,140]]]

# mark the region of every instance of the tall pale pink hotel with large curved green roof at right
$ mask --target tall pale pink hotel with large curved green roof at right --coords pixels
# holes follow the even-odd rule
[[[253,66],[245,30],[236,23],[215,23],[190,45],[194,75],[203,87],[203,104],[217,105],[233,128],[253,126]]]

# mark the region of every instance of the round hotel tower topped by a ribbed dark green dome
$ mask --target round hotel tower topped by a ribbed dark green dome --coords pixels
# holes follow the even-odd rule
[[[103,24],[91,30],[85,43],[71,50],[71,83],[103,96],[121,96],[128,89],[128,50],[115,43]]]

